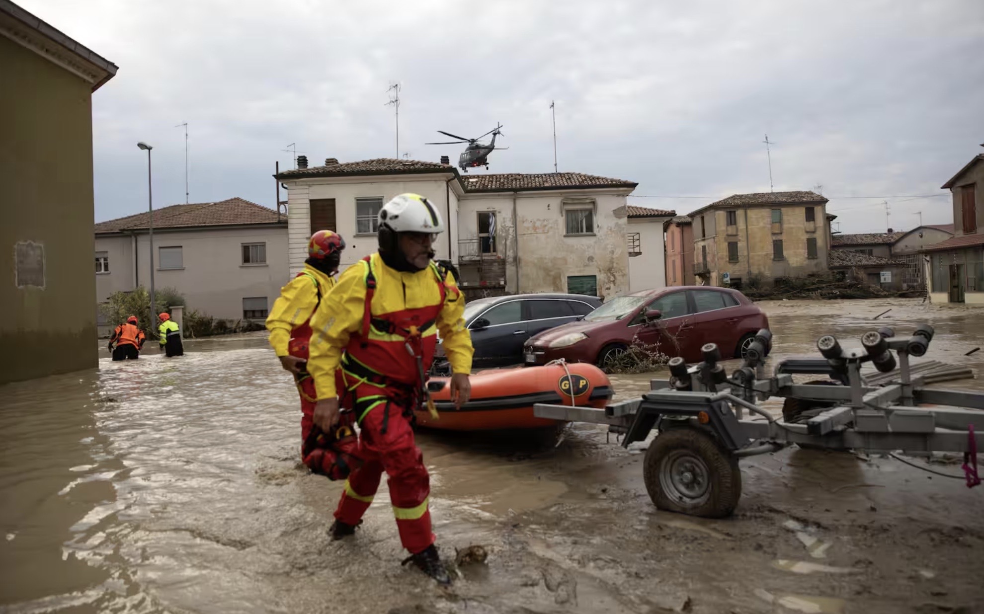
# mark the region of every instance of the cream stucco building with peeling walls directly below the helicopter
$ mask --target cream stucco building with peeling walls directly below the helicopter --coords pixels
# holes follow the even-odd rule
[[[611,297],[637,283],[664,282],[662,221],[672,212],[627,207],[626,197],[637,185],[630,181],[569,172],[467,175],[447,160],[339,163],[328,158],[324,165],[308,166],[300,156],[298,165],[277,175],[288,194],[291,272],[302,267],[307,239],[320,228],[344,237],[343,269],[376,251],[379,209],[398,194],[413,192],[429,198],[447,220],[448,231],[435,246],[437,258],[458,265],[471,296]],[[645,263],[630,258],[629,244],[631,233],[643,231],[644,256],[650,259]]]

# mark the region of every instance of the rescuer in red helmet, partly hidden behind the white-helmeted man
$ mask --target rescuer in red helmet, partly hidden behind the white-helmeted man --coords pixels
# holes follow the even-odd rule
[[[335,285],[335,274],[345,241],[331,230],[319,230],[308,241],[308,258],[304,270],[280,288],[280,296],[267,317],[270,344],[280,365],[293,374],[301,398],[301,441],[311,433],[314,414],[314,381],[305,369],[309,322],[325,295]]]

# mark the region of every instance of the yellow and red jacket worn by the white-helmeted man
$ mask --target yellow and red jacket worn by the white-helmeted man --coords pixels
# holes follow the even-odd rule
[[[371,278],[375,289],[367,321]],[[453,274],[447,274],[443,286],[433,263],[423,271],[402,273],[387,267],[378,253],[345,270],[311,319],[308,371],[314,377],[318,399],[337,395],[335,378],[342,352],[347,352],[346,361],[355,361],[360,368],[415,385],[419,381],[416,358],[407,350],[410,328],[419,331],[412,345],[422,355],[425,372],[430,369],[440,331],[452,371],[470,373],[474,350],[462,318],[464,297]]]

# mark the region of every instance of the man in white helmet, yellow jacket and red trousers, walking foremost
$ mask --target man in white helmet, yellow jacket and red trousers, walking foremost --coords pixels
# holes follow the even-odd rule
[[[464,298],[455,276],[432,262],[434,238],[443,231],[441,215],[424,197],[401,194],[383,207],[379,253],[341,274],[311,320],[308,369],[318,398],[314,423],[330,432],[340,399],[360,425],[364,463],[345,482],[333,538],[362,522],[385,471],[400,541],[410,552],[403,563],[447,584],[431,532],[430,478],[410,423],[425,399],[438,332],[453,370],[452,399],[461,407],[471,393]]]

